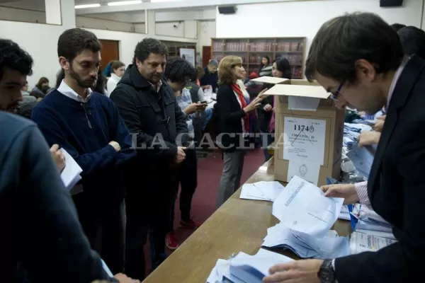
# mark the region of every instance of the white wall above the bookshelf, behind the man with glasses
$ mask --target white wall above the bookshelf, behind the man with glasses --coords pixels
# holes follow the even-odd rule
[[[402,7],[380,8],[378,0],[323,0],[237,5],[234,15],[217,11],[217,37],[307,37],[307,57],[317,30],[331,18],[367,11],[378,13],[390,24],[420,27],[422,4],[423,0],[404,0]],[[268,21],[261,20],[261,14]],[[250,25],[253,19],[255,24]]]

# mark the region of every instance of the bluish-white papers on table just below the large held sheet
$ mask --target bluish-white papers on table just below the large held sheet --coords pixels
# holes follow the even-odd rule
[[[300,258],[339,258],[350,254],[348,237],[339,237],[334,230],[316,238],[291,231],[283,224],[267,229],[262,246],[289,249]]]

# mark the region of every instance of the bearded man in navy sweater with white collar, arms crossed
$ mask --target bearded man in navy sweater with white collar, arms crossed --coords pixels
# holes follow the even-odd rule
[[[117,108],[91,91],[101,64],[101,43],[87,30],[60,35],[57,53],[64,80],[33,109],[33,120],[49,144],[58,144],[82,168],[71,190],[91,246],[114,273],[124,265],[123,171],[135,157],[131,138]]]

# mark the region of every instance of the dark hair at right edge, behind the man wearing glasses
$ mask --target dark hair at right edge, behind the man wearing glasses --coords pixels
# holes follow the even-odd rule
[[[416,54],[425,59],[425,31],[414,26],[400,28],[397,32],[406,55]]]

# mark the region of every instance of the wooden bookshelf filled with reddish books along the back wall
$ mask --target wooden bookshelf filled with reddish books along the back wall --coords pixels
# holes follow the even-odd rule
[[[277,57],[286,57],[293,79],[304,79],[305,37],[212,38],[211,47],[211,58],[219,62],[227,55],[241,57],[248,74],[259,73],[261,59],[266,55],[271,62]]]

